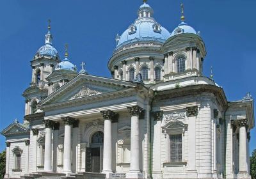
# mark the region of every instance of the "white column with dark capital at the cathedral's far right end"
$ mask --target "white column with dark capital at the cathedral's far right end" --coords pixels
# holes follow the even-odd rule
[[[246,125],[247,120],[237,120],[239,125],[239,173],[248,173],[247,171],[247,149],[246,149]]]

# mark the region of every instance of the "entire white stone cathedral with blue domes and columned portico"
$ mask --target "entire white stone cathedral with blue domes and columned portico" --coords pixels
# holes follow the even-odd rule
[[[203,74],[205,43],[186,22],[170,33],[143,1],[116,35],[112,77],[78,70],[45,44],[31,59],[25,114],[6,137],[4,178],[251,178],[250,93],[228,101]]]

